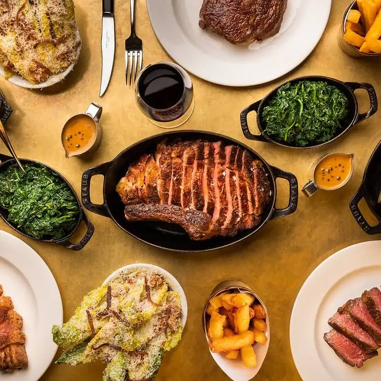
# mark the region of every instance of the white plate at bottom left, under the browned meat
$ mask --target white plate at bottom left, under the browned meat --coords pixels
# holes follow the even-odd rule
[[[63,322],[57,283],[39,254],[20,239],[0,231],[0,284],[23,318],[29,360],[26,369],[0,372],[0,379],[37,381],[57,352],[52,326]]]

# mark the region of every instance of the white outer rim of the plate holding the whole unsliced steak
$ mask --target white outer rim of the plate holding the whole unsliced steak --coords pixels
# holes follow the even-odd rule
[[[160,44],[162,45],[163,49],[168,53],[168,55],[176,61],[180,66],[182,66],[184,69],[189,71],[190,73],[196,75],[196,77],[199,77],[205,81],[215,83],[217,85],[223,85],[223,86],[232,86],[232,87],[247,87],[247,86],[257,86],[265,83],[269,83],[271,81],[274,81],[280,77],[283,77],[283,75],[287,74],[291,70],[293,70],[295,67],[300,65],[304,60],[307,59],[307,57],[311,54],[311,52],[316,48],[318,45],[325,28],[328,23],[330,11],[331,11],[331,6],[332,6],[332,1],[331,0],[324,0],[325,1],[325,6],[326,9],[323,10],[322,7],[322,1],[319,0],[309,0],[308,2],[302,0],[301,3],[304,4],[312,4],[314,2],[315,4],[311,6],[311,12],[309,14],[306,14],[306,12],[302,13],[302,18],[301,21],[304,23],[303,25],[308,28],[308,34],[309,40],[307,40],[307,45],[306,49],[303,51],[303,53],[298,52],[298,48],[296,46],[298,39],[296,38],[295,41],[293,41],[293,45],[290,44],[292,48],[295,48],[295,51],[293,54],[299,55],[295,60],[289,62],[288,57],[284,57],[285,63],[287,65],[284,66],[283,69],[280,69],[278,72],[273,73],[271,75],[265,76],[263,73],[260,73],[259,75],[256,75],[255,77],[250,78],[250,67],[247,68],[247,79],[245,78],[244,80],[242,79],[234,79],[234,78],[229,78],[227,73],[229,72],[234,72],[231,68],[223,68],[219,70],[214,70],[212,68],[208,70],[207,65],[200,65],[197,67],[195,66],[195,63],[199,57],[197,56],[196,52],[194,49],[178,49],[178,46],[176,44],[172,44],[168,42],[168,40],[165,38],[165,34],[168,34],[166,30],[168,28],[171,28],[172,25],[171,23],[163,23],[162,15],[163,13],[169,14],[169,12],[157,12],[155,9],[155,3],[158,4],[160,3],[160,7],[170,7],[171,2],[173,1],[195,1],[195,0],[146,0],[147,3],[147,10],[148,10],[148,16],[149,20],[151,23],[151,26],[154,29],[155,35],[157,36],[157,39],[159,40]],[[157,5],[159,7],[159,5]],[[314,8],[316,6],[316,8]],[[322,12],[322,19],[321,23],[316,24],[316,15],[318,14],[319,11],[324,11]],[[163,25],[161,27],[161,24]],[[311,25],[314,25],[315,28],[311,28]],[[299,28],[298,28],[299,31]],[[181,40],[185,40],[184,38],[184,33],[182,33],[181,28],[178,28],[178,30],[175,30],[170,33],[171,35],[175,34],[181,34]],[[299,31],[299,36],[301,32]],[[296,36],[296,35],[295,35]],[[221,37],[222,38],[222,37]],[[189,47],[192,44],[187,44],[187,47]],[[186,57],[184,58],[183,53],[186,53]],[[198,51],[198,53],[200,53]],[[289,52],[291,54],[291,52]],[[205,58],[205,56],[204,56]],[[287,58],[287,59],[286,59]],[[254,58],[255,59],[255,58]],[[232,57],[232,61],[237,61],[237,57]],[[282,62],[282,57],[279,59],[280,62]],[[205,61],[203,61],[205,62]],[[216,64],[216,62],[214,62]],[[234,66],[236,70],[240,71],[242,70],[242,65],[240,66],[239,63]],[[220,72],[221,74],[217,74],[217,72]],[[252,71],[251,71],[252,72]]]

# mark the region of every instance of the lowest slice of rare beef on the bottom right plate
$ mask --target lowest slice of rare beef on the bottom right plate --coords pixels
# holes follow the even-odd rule
[[[324,340],[342,361],[352,367],[361,368],[364,365],[364,361],[378,355],[377,351],[366,353],[352,340],[335,329],[325,333]]]

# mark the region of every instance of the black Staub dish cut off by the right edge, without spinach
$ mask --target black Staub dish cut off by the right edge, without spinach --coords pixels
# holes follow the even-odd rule
[[[362,230],[369,235],[381,233],[381,203],[379,203],[379,201],[381,202],[381,200],[379,200],[381,192],[381,166],[379,163],[381,163],[381,141],[374,149],[366,166],[361,185],[349,203],[356,222],[360,225]],[[370,226],[362,215],[359,209],[359,202],[362,199],[365,199],[369,209],[377,218],[377,225]]]

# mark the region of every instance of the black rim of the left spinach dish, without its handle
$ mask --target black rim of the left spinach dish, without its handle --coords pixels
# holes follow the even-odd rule
[[[5,157],[8,157],[6,155],[4,155]],[[12,163],[13,162],[13,163]],[[34,241],[37,241],[37,242],[48,242],[48,243],[56,243],[56,244],[59,244],[60,242],[63,242],[67,239],[69,239],[73,234],[74,232],[78,229],[78,227],[80,226],[80,223],[82,221],[82,216],[83,216],[83,209],[82,209],[82,205],[81,205],[81,201],[79,199],[79,197],[77,196],[77,194],[75,193],[74,191],[74,188],[72,187],[72,185],[70,184],[70,182],[63,176],[61,175],[56,169],[50,167],[49,165],[45,164],[45,163],[42,163],[42,162],[39,162],[37,160],[33,160],[33,159],[20,159],[20,162],[21,163],[30,163],[30,164],[39,164],[39,165],[42,165],[48,169],[50,169],[53,173],[55,173],[62,181],[65,182],[66,185],[69,186],[72,194],[74,195],[75,197],[75,200],[77,201],[77,205],[78,205],[78,209],[79,209],[79,214],[78,214],[78,221],[77,221],[77,224],[75,225],[75,227],[73,228],[73,230],[67,234],[65,237],[63,238],[60,238],[58,240],[43,240],[43,239],[37,239],[37,238],[34,238],[34,237],[31,237],[25,233],[23,233],[21,230],[19,230],[17,227],[15,227],[14,225],[12,225],[4,216],[3,216],[3,213],[0,211],[0,217],[3,219],[3,221],[9,226],[11,227],[15,232],[21,234],[22,236],[26,237],[26,238],[30,238]],[[12,158],[12,157],[9,157],[9,159],[7,160],[4,160],[1,164],[0,164],[0,171],[2,171],[2,167],[5,166],[5,165],[13,165],[13,164],[16,164],[16,161]]]

